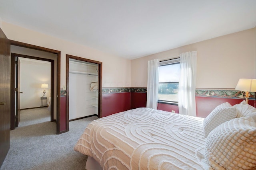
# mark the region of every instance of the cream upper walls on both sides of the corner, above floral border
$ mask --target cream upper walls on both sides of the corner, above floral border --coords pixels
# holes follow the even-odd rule
[[[61,51],[61,87],[66,54],[103,62],[103,87],[146,87],[147,61],[198,51],[196,88],[235,88],[239,78],[256,78],[255,28],[156,53],[132,61],[2,21],[9,39]]]

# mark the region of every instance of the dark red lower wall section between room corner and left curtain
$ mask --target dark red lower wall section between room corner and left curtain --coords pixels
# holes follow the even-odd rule
[[[138,107],[146,107],[147,105],[147,94],[131,92],[131,109]]]

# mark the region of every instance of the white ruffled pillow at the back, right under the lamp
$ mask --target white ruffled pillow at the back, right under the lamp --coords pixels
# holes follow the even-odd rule
[[[256,122],[256,108],[247,104],[244,100],[240,104],[233,106],[237,110],[237,117],[252,117]]]

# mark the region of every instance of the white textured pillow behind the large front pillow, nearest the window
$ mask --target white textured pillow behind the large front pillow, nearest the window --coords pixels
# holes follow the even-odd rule
[[[236,109],[228,102],[222,103],[215,107],[212,112],[204,119],[204,135],[205,137],[218,125],[236,118]]]

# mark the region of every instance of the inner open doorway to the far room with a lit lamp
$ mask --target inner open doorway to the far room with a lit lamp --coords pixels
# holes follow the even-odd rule
[[[15,89],[11,90],[15,101],[11,108],[15,109],[11,109],[10,129],[18,127],[21,109],[48,107],[49,121],[54,121],[50,100],[54,96],[54,60],[11,53],[11,67],[11,88]],[[43,85],[47,87],[41,89]]]

